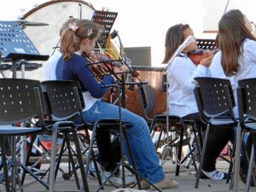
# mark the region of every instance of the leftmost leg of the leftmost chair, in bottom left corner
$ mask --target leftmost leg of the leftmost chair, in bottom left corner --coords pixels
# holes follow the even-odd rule
[[[2,136],[0,137],[1,140],[1,152],[2,152],[2,163],[3,163],[3,174],[4,174],[4,183],[5,183],[5,190],[6,192],[11,192],[9,189],[9,170],[7,167],[7,162],[6,162],[6,152],[5,152],[5,138]]]

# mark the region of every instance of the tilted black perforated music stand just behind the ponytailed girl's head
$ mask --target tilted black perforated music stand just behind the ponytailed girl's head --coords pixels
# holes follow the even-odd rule
[[[96,10],[92,15],[91,20],[100,26],[100,34],[101,38],[98,40],[100,44],[102,44],[103,48],[104,45],[107,43],[107,38],[111,28],[113,26],[114,20],[116,19],[118,13],[116,12],[109,12],[109,11],[99,11]]]

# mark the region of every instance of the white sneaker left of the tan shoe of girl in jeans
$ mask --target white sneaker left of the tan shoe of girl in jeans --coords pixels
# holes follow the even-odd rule
[[[111,172],[102,171],[101,176],[102,176],[102,183],[104,183],[106,180],[108,180],[107,183],[110,183],[117,187],[122,186],[122,174],[120,174],[120,173],[113,173],[111,175]],[[134,178],[125,175],[125,186],[129,186],[134,183],[135,183]]]

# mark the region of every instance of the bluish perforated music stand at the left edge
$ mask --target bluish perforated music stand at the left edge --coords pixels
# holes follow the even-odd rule
[[[40,55],[38,49],[15,21],[0,20],[0,51],[3,61],[12,61],[13,78],[16,78],[16,61],[47,61],[49,55]]]

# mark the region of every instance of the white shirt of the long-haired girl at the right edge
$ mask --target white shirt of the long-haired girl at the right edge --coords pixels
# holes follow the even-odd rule
[[[212,64],[209,67],[213,78],[230,79],[234,96],[236,99],[237,82],[241,79],[256,78],[256,41],[246,39],[243,43],[243,52],[238,57],[238,64],[240,66],[236,75],[227,77],[224,74],[223,67],[221,65],[222,52],[218,51],[212,59]],[[237,101],[237,100],[236,100]],[[237,108],[234,108],[237,116]]]

